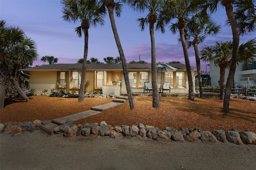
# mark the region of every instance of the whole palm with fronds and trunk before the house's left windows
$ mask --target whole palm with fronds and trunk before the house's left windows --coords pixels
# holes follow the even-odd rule
[[[96,27],[104,25],[103,17],[105,16],[105,10],[102,3],[98,0],[61,0],[62,7],[62,18],[66,22],[80,22],[80,26],[75,28],[75,32],[78,37],[84,33],[84,62],[82,67],[82,77],[80,84],[80,91],[78,102],[84,101],[84,88],[85,88],[85,77],[86,77],[86,64],[88,55],[88,30],[91,26]]]

